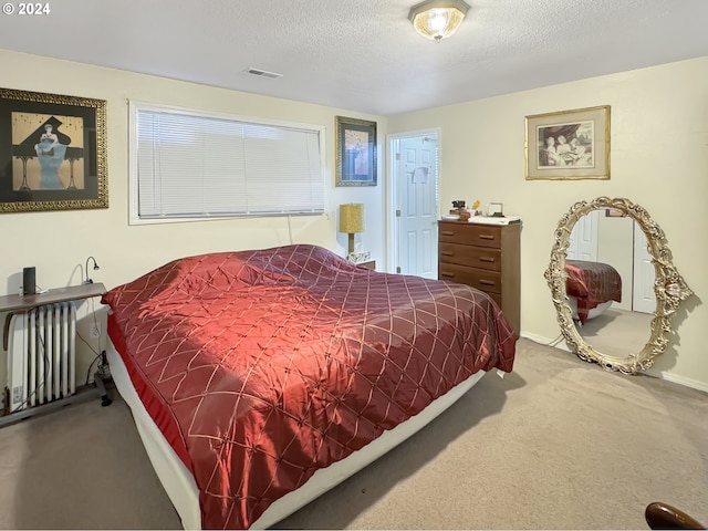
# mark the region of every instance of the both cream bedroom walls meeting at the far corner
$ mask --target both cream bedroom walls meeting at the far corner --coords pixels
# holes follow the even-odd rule
[[[389,118],[1,50],[0,64],[4,88],[107,101],[111,202],[103,210],[0,215],[0,281],[4,280],[0,294],[18,291],[27,266],[37,267],[40,285],[65,287],[81,282],[86,257],[94,256],[101,270],[92,277],[113,288],[176,257],[289,242],[283,218],[128,226],[128,100],[324,124],[332,183],[327,214],[293,218],[293,241],[322,244],[343,254],[346,236],[336,231],[337,206],[364,202],[367,230],[357,242],[372,251],[382,270],[387,191],[382,140],[387,133],[439,127],[440,211],[452,199],[471,204],[479,198],[483,205],[503,202],[507,214],[523,218],[522,333],[549,341],[559,335],[543,271],[560,217],[580,199],[628,197],[664,228],[674,262],[696,292],[676,320],[677,334],[655,367],[668,378],[708,389],[702,347],[708,315],[701,304],[708,290],[704,271],[708,260],[708,58]],[[524,116],[595,105],[612,106],[612,179],[524,180]],[[333,186],[337,114],[377,121],[379,186]],[[88,306],[84,304],[84,314]],[[81,354],[85,366],[92,354],[87,348]]]

